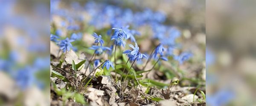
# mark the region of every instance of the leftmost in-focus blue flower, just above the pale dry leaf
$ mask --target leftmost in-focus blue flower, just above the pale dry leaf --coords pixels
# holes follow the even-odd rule
[[[63,50],[63,52],[70,51],[70,47],[73,48],[71,42],[73,42],[73,39],[66,38],[64,40],[61,40],[59,43],[60,49]]]

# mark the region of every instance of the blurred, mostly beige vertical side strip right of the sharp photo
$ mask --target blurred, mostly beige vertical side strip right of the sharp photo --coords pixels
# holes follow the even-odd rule
[[[207,105],[256,105],[256,2],[206,0]]]

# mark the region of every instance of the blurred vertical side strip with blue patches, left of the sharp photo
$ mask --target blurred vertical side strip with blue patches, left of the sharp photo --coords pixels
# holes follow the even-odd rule
[[[0,0],[0,106],[49,106],[49,17],[49,0]]]

